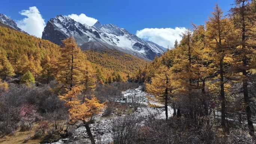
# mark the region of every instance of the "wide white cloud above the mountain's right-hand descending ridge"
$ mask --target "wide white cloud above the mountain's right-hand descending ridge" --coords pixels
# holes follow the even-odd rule
[[[164,48],[173,47],[174,42],[177,39],[178,42],[182,39],[180,34],[186,31],[185,27],[176,28],[144,28],[143,30],[138,30],[136,36],[141,39],[146,39],[151,42],[163,46]]]

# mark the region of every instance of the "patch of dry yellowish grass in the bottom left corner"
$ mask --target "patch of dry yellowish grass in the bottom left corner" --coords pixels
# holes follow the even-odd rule
[[[30,135],[33,137],[36,130],[36,125],[31,129],[31,131],[20,132],[19,130],[15,132],[14,135],[7,135],[0,138],[0,144],[24,144],[24,140]],[[25,144],[40,144],[41,139],[28,140]]]

